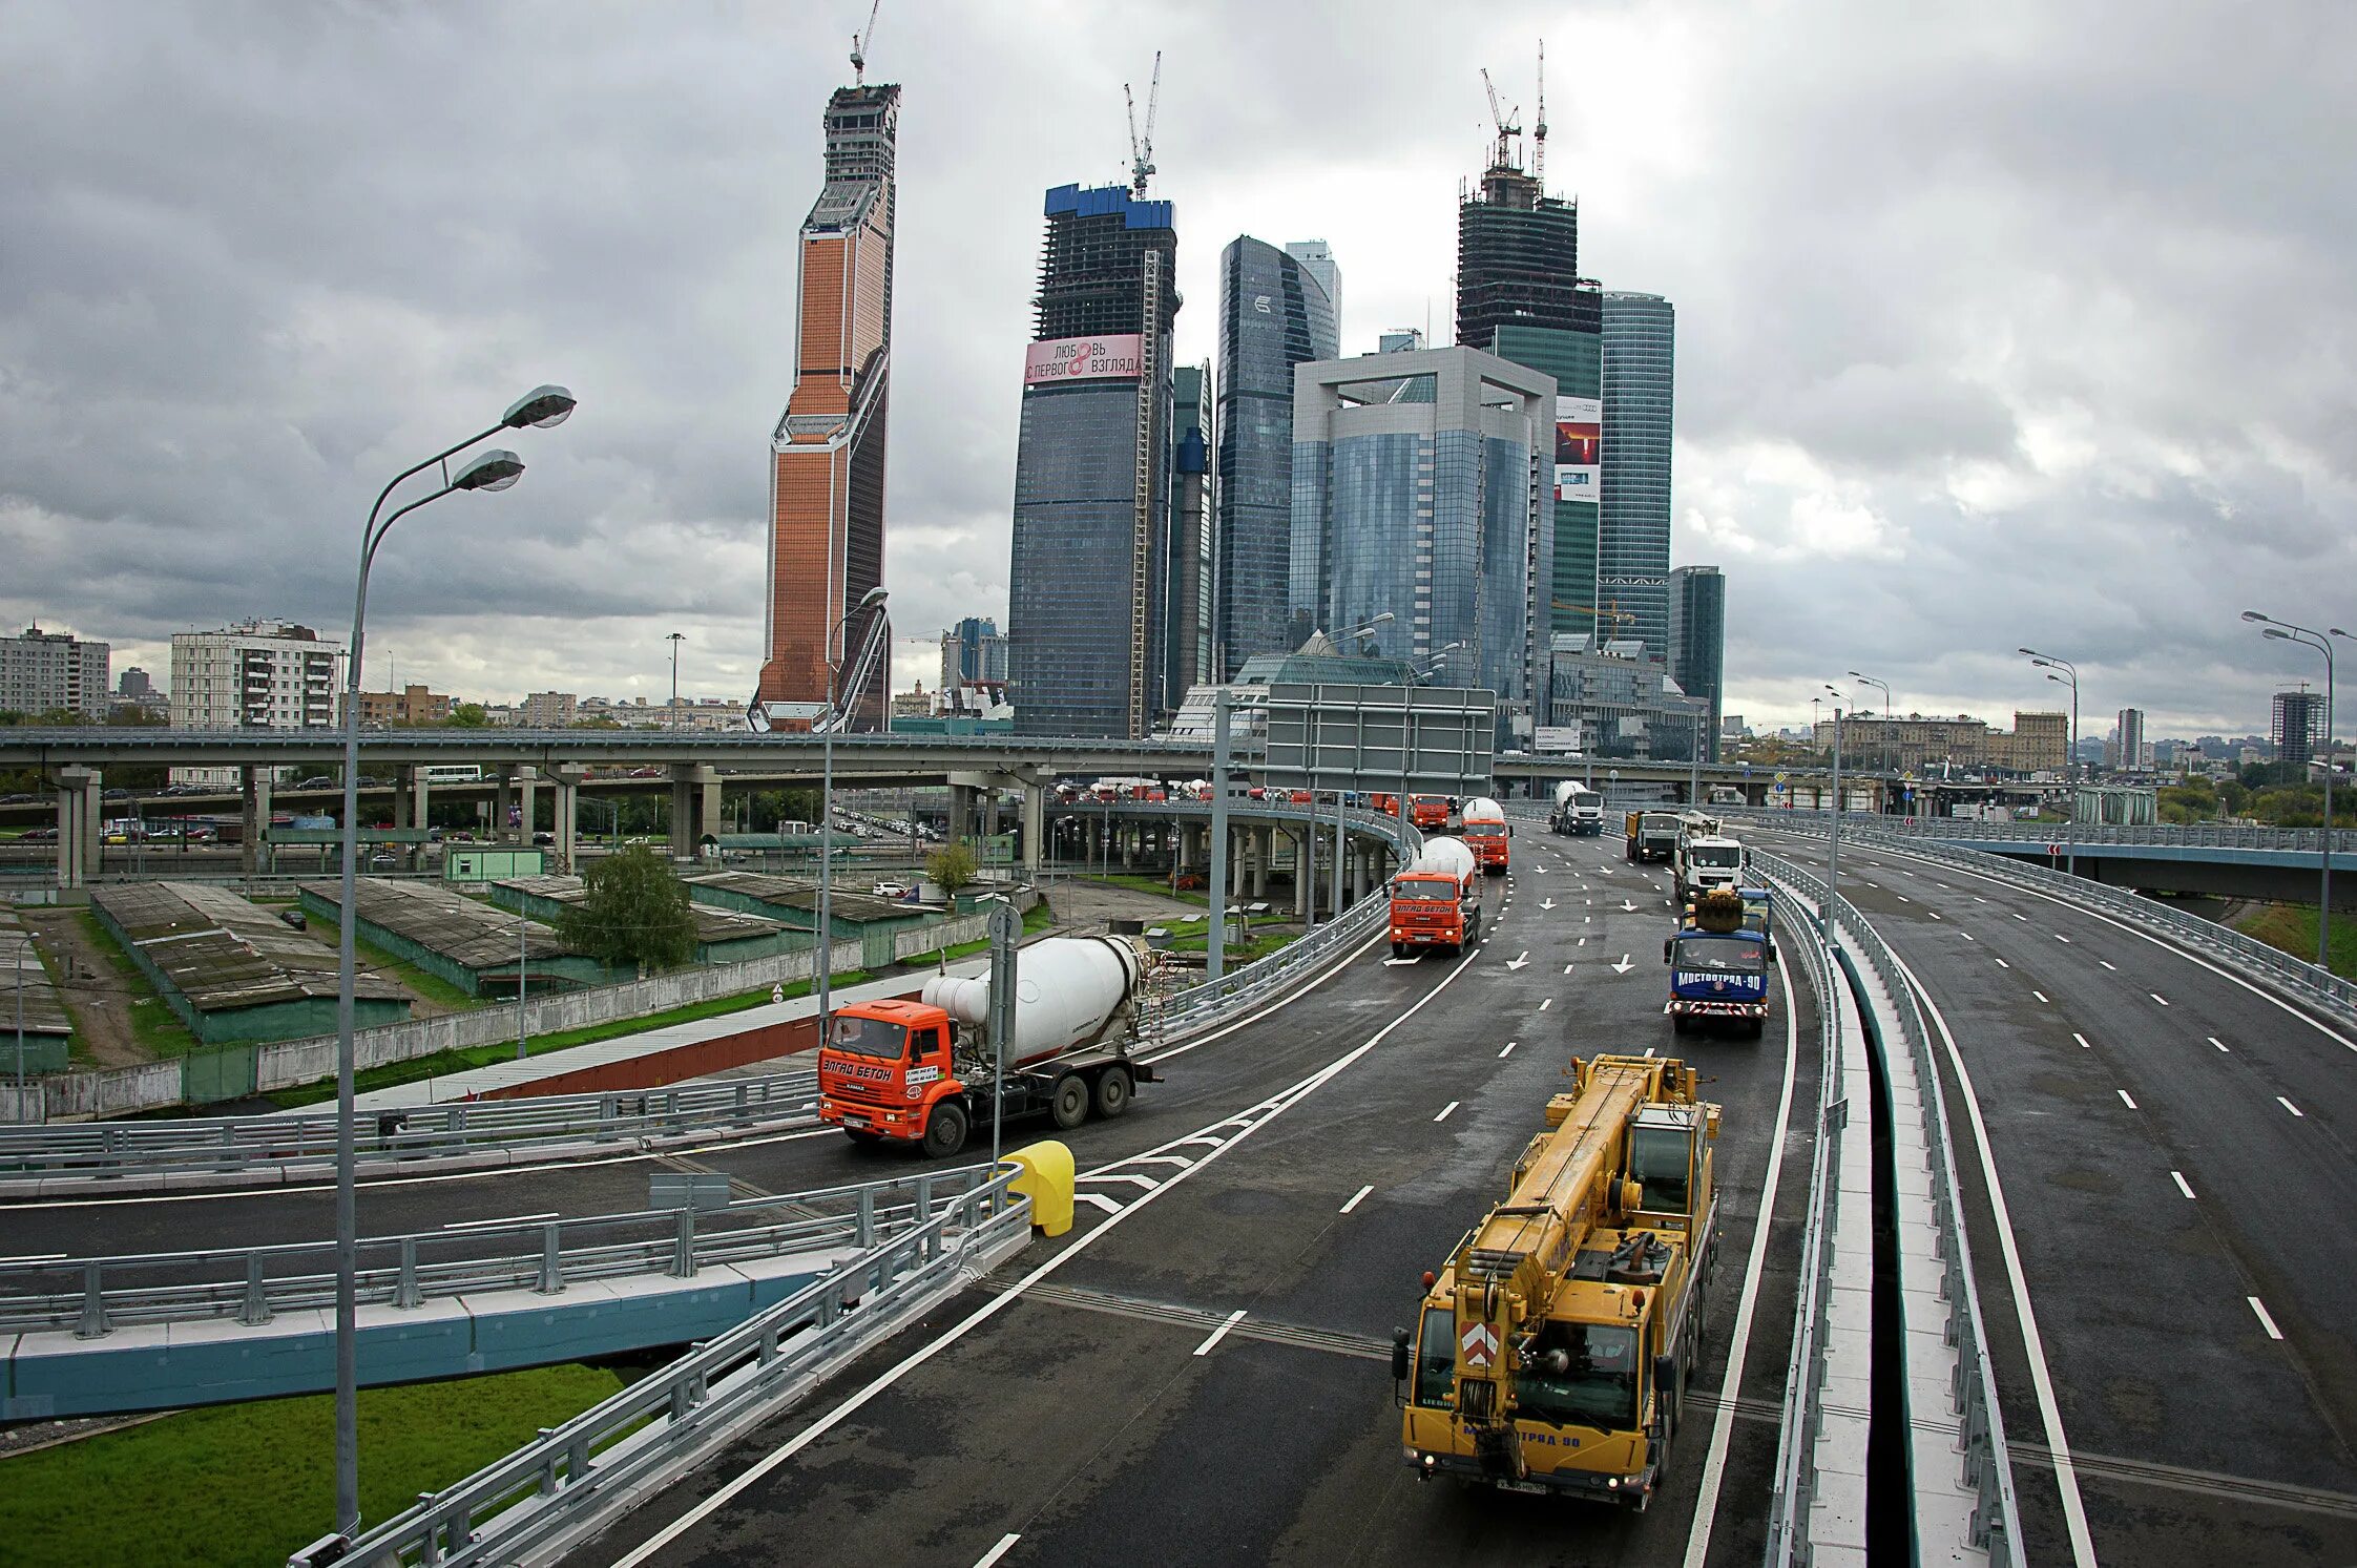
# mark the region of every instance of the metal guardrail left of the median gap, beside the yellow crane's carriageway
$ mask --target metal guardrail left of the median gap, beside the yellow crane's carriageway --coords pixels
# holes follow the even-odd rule
[[[1824,901],[1824,884],[1798,865],[1756,854],[1754,861],[1787,898]],[[1787,905],[1791,908],[1791,905]],[[1791,1358],[1784,1368],[1784,1412],[1777,1422],[1775,1471],[1768,1495],[1768,1566],[1808,1561],[1808,1516],[1817,1493],[1817,1431],[1824,1422],[1824,1342],[1831,1327],[1834,1221],[1841,1210],[1841,1139],[1848,1127],[1848,1089],[1841,1080],[1841,1014],[1834,1007],[1831,955],[1817,941],[1815,922],[1782,920],[1780,955],[1798,955],[1817,990],[1817,1137],[1808,1177],[1808,1219],[1801,1224],[1798,1287],[1791,1309]]]

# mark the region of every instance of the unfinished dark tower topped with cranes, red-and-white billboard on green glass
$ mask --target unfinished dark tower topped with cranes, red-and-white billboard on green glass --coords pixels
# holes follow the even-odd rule
[[[1579,203],[1546,196],[1506,160],[1506,144],[1497,151],[1501,160],[1457,205],[1457,342],[1556,377],[1556,573],[1541,615],[1549,632],[1589,637],[1603,606],[1596,597],[1603,295],[1579,276]]]

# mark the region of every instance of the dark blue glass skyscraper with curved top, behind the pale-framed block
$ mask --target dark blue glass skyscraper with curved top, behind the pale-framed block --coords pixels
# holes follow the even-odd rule
[[[1315,255],[1301,250],[1315,245]],[[1240,236],[1219,257],[1219,528],[1214,665],[1287,653],[1294,365],[1341,356],[1322,241],[1277,250]]]

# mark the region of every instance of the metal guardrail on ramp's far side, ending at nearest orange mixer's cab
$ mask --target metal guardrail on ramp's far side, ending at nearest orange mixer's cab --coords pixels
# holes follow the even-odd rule
[[[358,1115],[358,1158],[363,1165],[382,1165],[486,1146],[622,1144],[808,1120],[816,1111],[816,1068],[662,1089],[398,1106]],[[335,1125],[332,1111],[9,1125],[0,1127],[0,1177],[120,1177],[132,1170],[219,1174],[262,1165],[332,1170]]]

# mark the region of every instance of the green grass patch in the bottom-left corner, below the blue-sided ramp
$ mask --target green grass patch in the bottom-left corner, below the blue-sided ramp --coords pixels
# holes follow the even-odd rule
[[[361,1389],[361,1518],[391,1518],[622,1389],[556,1365]],[[335,1516],[335,1396],[184,1410],[0,1460],[0,1540],[21,1568],[276,1568]]]

